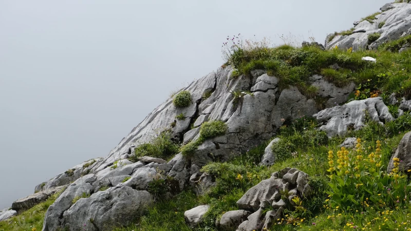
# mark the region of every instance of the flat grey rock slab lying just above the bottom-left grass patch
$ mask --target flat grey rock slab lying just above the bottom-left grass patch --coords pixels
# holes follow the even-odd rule
[[[63,188],[65,188],[66,186],[67,185],[59,186],[59,187],[55,187],[55,188],[49,188],[49,189],[46,189],[44,191],[37,192],[35,194],[27,196],[25,198],[18,199],[18,200],[13,202],[13,204],[11,205],[11,208],[20,213],[20,211],[29,209],[29,208],[33,207],[34,205],[36,205],[36,204],[39,204],[43,201],[46,201],[51,195],[55,194],[56,192],[59,192],[59,191],[63,190]]]

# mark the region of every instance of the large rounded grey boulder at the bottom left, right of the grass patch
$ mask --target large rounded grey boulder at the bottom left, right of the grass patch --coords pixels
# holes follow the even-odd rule
[[[63,214],[62,227],[78,230],[111,230],[111,226],[127,225],[152,204],[147,191],[130,187],[113,187],[78,200]]]

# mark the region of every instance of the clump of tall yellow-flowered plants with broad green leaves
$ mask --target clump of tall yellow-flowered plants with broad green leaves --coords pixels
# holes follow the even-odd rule
[[[361,139],[357,139],[356,150],[342,147],[337,152],[328,151],[330,172],[330,201],[328,206],[334,209],[367,208],[370,205],[378,207],[395,207],[404,203],[411,186],[406,183],[406,176],[399,171],[400,160],[394,158],[394,169],[385,172],[381,161],[381,142],[376,148],[365,152]],[[367,153],[369,153],[367,155]]]

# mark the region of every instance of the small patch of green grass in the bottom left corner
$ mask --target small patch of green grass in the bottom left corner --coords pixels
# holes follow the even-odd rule
[[[12,217],[6,221],[0,221],[0,231],[30,231],[33,228],[35,228],[38,231],[42,230],[44,216],[46,214],[48,207],[52,203],[54,203],[55,199],[59,197],[62,191],[57,192],[56,194],[52,195],[49,199],[47,199],[45,202],[42,202],[26,211],[23,211],[15,217]]]

